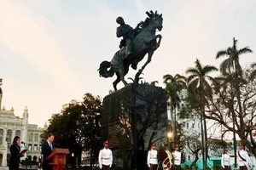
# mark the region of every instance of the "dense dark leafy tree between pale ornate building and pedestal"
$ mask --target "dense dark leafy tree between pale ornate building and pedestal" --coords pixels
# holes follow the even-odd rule
[[[90,150],[92,163],[99,151],[101,111],[101,98],[84,94],[82,102],[72,100],[69,104],[63,105],[61,112],[54,114],[49,120],[49,127],[45,133],[54,133],[56,146],[68,148],[79,161],[81,152]]]

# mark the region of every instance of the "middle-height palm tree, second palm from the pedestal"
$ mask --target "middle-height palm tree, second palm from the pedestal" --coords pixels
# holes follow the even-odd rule
[[[194,94],[199,101],[201,110],[201,135],[202,135],[202,152],[203,152],[203,167],[207,169],[207,122],[205,119],[204,106],[207,105],[207,98],[212,97],[212,87],[207,81],[213,81],[214,78],[208,76],[212,71],[218,71],[215,66],[202,66],[200,61],[196,59],[195,67],[189,67],[186,73],[188,77],[189,94]]]

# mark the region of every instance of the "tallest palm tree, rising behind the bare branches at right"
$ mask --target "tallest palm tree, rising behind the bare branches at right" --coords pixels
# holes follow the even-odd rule
[[[228,56],[227,59],[224,59],[222,63],[219,65],[220,72],[223,74],[224,77],[234,75],[234,83],[233,87],[236,89],[236,98],[237,98],[237,103],[238,103],[238,109],[239,112],[241,113],[241,91],[239,88],[239,84],[241,82],[241,76],[242,76],[242,69],[241,65],[239,62],[239,56],[241,54],[248,54],[248,53],[253,53],[253,50],[250,49],[249,47],[241,48],[238,49],[236,46],[237,40],[235,37],[233,37],[233,45],[232,47],[229,47],[225,50],[220,50],[218,51],[216,55],[216,59],[223,57],[223,56]],[[241,115],[241,114],[240,114]],[[233,115],[234,118],[236,118],[236,115]],[[240,118],[240,123],[242,124],[243,117]],[[233,125],[235,126],[235,119],[233,120]],[[244,129],[241,129],[244,130]],[[236,133],[234,132],[234,152],[236,154]],[[235,167],[236,167],[236,156],[235,156]]]

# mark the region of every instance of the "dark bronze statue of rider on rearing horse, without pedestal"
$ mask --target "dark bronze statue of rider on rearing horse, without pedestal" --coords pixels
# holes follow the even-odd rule
[[[125,75],[129,67],[137,70],[137,64],[148,54],[148,59],[141,69],[137,71],[134,82],[138,82],[139,76],[143,73],[144,68],[151,62],[154,51],[160,47],[162,36],[155,34],[156,30],[162,30],[162,14],[153,11],[146,12],[148,18],[141,21],[135,29],[126,25],[122,17],[117,18],[119,27],[117,28],[117,37],[123,37],[119,50],[113,55],[111,61],[102,61],[98,69],[100,77],[113,77],[116,74],[117,79],[113,82],[114,90],[117,90],[117,84],[122,81],[126,86]],[[125,48],[124,48],[125,47]],[[109,69],[110,68],[110,69]]]

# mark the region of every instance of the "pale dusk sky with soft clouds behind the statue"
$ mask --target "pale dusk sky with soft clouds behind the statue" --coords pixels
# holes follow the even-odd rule
[[[72,99],[103,99],[115,77],[99,77],[97,69],[119,49],[116,18],[135,27],[148,10],[164,21],[160,48],[144,70],[147,82],[164,87],[164,75],[186,76],[195,59],[218,67],[225,58],[215,56],[233,37],[239,48],[256,51],[255,0],[0,0],[2,107],[22,116],[27,106],[29,123],[43,127]],[[242,66],[255,61],[255,53],[241,55]],[[134,77],[130,71],[126,79]]]

